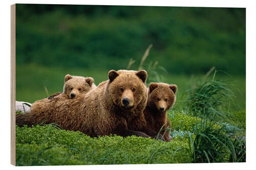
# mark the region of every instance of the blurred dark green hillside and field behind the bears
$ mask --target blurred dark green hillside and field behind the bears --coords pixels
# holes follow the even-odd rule
[[[66,74],[98,85],[131,58],[136,70],[150,44],[144,69],[157,61],[177,101],[215,66],[234,85],[231,109],[245,109],[245,8],[17,4],[16,100],[62,91]]]

